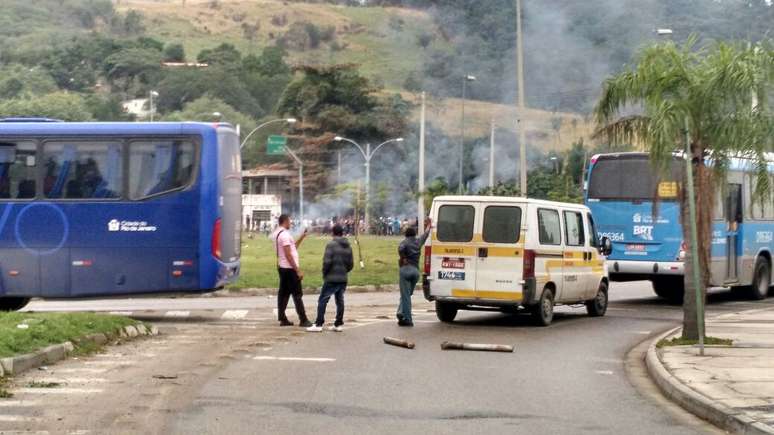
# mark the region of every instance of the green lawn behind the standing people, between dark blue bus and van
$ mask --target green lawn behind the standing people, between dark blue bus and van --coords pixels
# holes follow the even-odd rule
[[[330,237],[311,235],[298,250],[304,288],[322,285],[322,256]],[[382,285],[398,282],[398,244],[400,237],[360,237],[365,269],[358,264],[357,246],[350,238],[355,255],[355,269],[349,275],[349,285]],[[256,235],[242,239],[242,272],[232,288],[276,288],[277,260],[270,239]]]

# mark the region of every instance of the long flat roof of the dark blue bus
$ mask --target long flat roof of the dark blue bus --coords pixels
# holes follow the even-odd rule
[[[0,135],[183,135],[201,134],[228,123],[206,122],[0,122]]]

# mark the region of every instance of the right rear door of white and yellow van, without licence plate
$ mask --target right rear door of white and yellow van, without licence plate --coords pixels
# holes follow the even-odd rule
[[[490,205],[484,208],[483,243],[476,251],[476,296],[479,299],[521,302],[522,215],[519,206]]]

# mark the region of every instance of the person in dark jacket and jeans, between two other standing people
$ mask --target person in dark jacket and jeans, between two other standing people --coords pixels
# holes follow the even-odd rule
[[[338,224],[334,225],[333,240],[325,246],[323,257],[323,286],[320,290],[320,299],[317,301],[317,321],[306,329],[309,332],[322,332],[325,324],[325,308],[331,296],[336,298],[336,322],[331,330],[336,332],[343,330],[344,291],[347,289],[347,274],[354,264],[352,247],[343,236],[344,228]]]

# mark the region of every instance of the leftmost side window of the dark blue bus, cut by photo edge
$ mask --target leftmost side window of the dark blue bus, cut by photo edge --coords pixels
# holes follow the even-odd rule
[[[0,199],[35,197],[34,142],[0,143]]]

